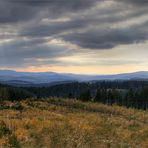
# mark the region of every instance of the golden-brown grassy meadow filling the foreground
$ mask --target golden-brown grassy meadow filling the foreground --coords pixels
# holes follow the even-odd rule
[[[148,112],[53,98],[4,101],[0,147],[146,148]]]

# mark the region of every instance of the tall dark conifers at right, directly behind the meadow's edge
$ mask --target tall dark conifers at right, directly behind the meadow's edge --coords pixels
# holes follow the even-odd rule
[[[78,98],[82,101],[100,102],[108,105],[120,105],[138,109],[148,109],[148,87],[142,89],[129,89],[125,91],[117,89],[98,89],[95,97],[87,90]]]

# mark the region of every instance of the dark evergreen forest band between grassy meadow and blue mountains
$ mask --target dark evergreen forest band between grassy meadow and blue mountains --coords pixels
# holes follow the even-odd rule
[[[50,87],[24,88],[0,85],[1,100],[22,100],[31,97],[38,99],[48,97],[72,98],[147,109],[148,81],[73,82]]]

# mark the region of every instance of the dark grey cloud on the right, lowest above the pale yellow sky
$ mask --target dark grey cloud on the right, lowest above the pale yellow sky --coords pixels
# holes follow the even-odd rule
[[[81,33],[63,35],[66,41],[82,48],[111,49],[118,45],[144,42],[148,39],[148,23],[127,28],[91,29]]]

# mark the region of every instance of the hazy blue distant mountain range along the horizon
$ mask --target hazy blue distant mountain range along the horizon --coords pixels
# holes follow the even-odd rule
[[[0,70],[0,83],[16,86],[49,86],[73,81],[87,82],[100,80],[148,80],[148,72],[140,71],[115,75],[80,75],[55,72],[16,72]]]

